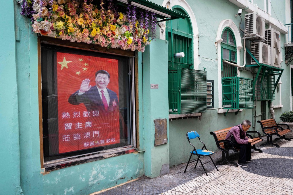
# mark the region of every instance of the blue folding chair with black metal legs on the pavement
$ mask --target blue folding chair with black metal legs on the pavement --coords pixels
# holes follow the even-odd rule
[[[195,139],[195,138],[198,137],[198,139],[200,140],[200,135],[196,131],[187,132],[186,133],[186,137],[188,139],[189,144],[192,145],[192,146],[193,146],[193,144],[190,143],[190,139]],[[198,161],[200,161],[200,164],[202,165],[203,170],[205,170],[205,167],[203,166],[204,164],[209,163],[211,161],[214,163],[214,161],[213,161],[213,159],[211,157],[211,155],[213,154],[213,152],[203,151],[204,148],[205,148],[205,150],[207,150],[207,147],[205,146],[205,143],[203,143],[201,140],[200,140],[200,142],[203,144],[202,149],[201,150],[200,149],[197,150],[193,146],[193,151],[190,152],[191,154],[190,154],[190,157],[189,157],[189,160],[188,160],[188,163],[186,165],[186,168],[185,168],[184,172],[186,172],[186,169],[187,169],[188,164],[189,163],[192,163],[192,162],[195,162],[195,161],[196,161],[196,164],[195,164],[195,167],[194,168],[196,168],[196,165],[197,165]],[[190,159],[191,159],[191,156],[192,155],[197,155],[197,159],[195,159],[194,161],[191,161],[190,162]],[[209,156],[209,158],[211,158],[211,161],[208,161],[206,163],[202,163],[202,161],[200,160],[200,156]],[[215,165],[217,171],[219,171],[215,163],[214,163],[214,165]],[[205,174],[207,174],[207,171],[206,170],[205,170]]]

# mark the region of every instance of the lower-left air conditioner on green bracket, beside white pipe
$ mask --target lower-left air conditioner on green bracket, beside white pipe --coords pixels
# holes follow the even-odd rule
[[[251,43],[251,54],[259,63],[271,65],[271,46],[263,42]],[[256,61],[251,58],[251,64],[256,64]]]

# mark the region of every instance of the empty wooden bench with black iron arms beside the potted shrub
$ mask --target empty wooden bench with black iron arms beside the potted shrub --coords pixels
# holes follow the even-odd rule
[[[258,120],[258,123],[260,124],[261,129],[263,130],[263,134],[267,136],[267,143],[261,144],[261,146],[272,145],[279,148],[280,146],[278,144],[273,144],[273,141],[272,141],[273,135],[278,136],[275,140],[286,139],[288,141],[291,141],[291,139],[285,137],[285,134],[292,131],[289,129],[289,125],[285,123],[277,124],[276,120],[273,118],[267,119],[267,120],[260,120],[260,121]],[[284,125],[286,126],[286,128],[283,128],[280,125]]]

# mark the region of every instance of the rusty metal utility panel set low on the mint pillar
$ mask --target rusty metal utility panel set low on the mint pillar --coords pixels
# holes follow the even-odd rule
[[[155,146],[166,144],[167,138],[167,119],[154,120],[155,125]]]

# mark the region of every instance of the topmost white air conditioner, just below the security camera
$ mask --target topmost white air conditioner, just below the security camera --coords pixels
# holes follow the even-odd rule
[[[255,38],[265,39],[265,19],[257,13],[245,14],[245,31]],[[249,37],[247,34],[245,36]]]

